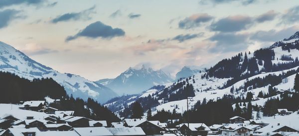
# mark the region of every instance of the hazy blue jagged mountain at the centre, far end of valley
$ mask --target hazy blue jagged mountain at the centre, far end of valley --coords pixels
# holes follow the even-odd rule
[[[154,85],[172,82],[162,70],[154,71],[150,67],[130,67],[113,80],[102,79],[96,81],[114,90],[119,95],[138,94]]]

